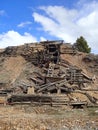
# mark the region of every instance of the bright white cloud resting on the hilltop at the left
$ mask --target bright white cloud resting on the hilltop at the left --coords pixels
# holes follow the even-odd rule
[[[7,33],[0,34],[0,48],[17,46],[36,41],[37,39],[27,32],[25,32],[24,35],[21,35],[18,32],[10,30]]]

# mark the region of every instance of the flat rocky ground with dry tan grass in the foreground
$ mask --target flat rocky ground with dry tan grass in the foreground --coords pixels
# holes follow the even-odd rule
[[[98,130],[98,108],[0,106],[0,130]]]

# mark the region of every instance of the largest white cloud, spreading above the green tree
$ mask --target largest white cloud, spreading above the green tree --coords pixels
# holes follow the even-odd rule
[[[39,9],[46,15],[34,12],[32,16],[35,22],[41,24],[43,31],[50,35],[72,43],[82,35],[92,50],[96,51],[98,48],[98,2],[86,3],[85,0],[84,2],[79,8],[74,9],[63,6],[43,6]]]

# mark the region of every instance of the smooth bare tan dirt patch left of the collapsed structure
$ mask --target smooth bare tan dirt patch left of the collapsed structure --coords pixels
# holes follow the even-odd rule
[[[0,83],[13,84],[17,77],[21,74],[25,66],[25,59],[21,56],[17,57],[1,57],[0,58]]]

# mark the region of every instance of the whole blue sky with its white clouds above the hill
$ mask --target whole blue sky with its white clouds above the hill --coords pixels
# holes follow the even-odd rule
[[[0,48],[80,36],[98,54],[97,0],[0,0]]]

